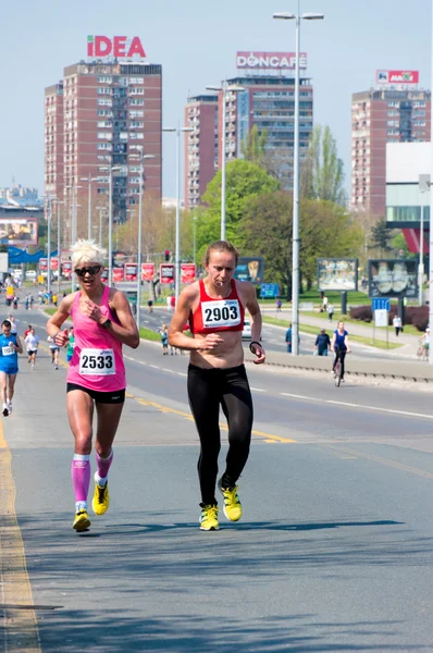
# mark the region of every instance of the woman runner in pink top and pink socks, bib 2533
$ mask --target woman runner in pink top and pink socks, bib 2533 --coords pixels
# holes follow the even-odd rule
[[[112,444],[125,401],[125,366],[122,345],[139,345],[137,325],[123,293],[101,282],[107,250],[95,241],[77,241],[72,247],[72,263],[82,286],[62,299],[48,320],[47,332],[59,346],[69,342],[61,331],[71,316],[75,348],[67,372],[67,417],[75,438],[72,481],[75,491],[76,531],[87,530],[87,495],[90,484],[90,452],[94,403],[97,408],[95,440],[97,471],[92,508],[103,515],[109,507],[108,471]]]

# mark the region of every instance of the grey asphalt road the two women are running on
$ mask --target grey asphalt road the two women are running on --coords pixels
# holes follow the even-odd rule
[[[39,650],[433,651],[430,392],[248,366],[244,517],[203,533],[187,357],[125,355],[111,506],[88,533],[71,528],[65,367],[23,358],[3,419]]]

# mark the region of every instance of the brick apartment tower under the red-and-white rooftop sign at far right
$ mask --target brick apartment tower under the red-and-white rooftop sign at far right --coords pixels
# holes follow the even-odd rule
[[[351,208],[385,215],[386,144],[430,140],[430,90],[356,93],[351,104]]]

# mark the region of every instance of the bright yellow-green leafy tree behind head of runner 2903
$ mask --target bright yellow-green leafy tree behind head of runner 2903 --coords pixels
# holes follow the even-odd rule
[[[251,197],[273,193],[279,189],[279,182],[272,178],[260,165],[237,159],[226,165],[226,237],[236,247],[243,248],[245,231],[239,223],[246,215],[246,205]],[[200,243],[212,243],[221,233],[221,171],[208,184],[203,195],[207,209],[200,224],[197,225]],[[200,249],[200,256],[202,255]]]

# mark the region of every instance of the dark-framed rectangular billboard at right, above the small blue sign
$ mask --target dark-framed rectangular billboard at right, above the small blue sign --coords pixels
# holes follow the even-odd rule
[[[418,261],[376,259],[369,261],[370,297],[418,297]]]

